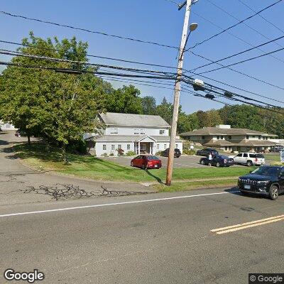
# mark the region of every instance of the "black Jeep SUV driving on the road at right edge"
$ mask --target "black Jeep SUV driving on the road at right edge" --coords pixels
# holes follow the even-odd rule
[[[263,165],[240,177],[238,187],[243,195],[253,193],[277,200],[284,192],[284,166]]]

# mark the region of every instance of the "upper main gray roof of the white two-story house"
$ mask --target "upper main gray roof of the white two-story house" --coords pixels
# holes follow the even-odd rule
[[[99,114],[104,124],[116,126],[152,126],[152,127],[170,127],[170,125],[160,116],[145,114],[117,114],[107,112]]]

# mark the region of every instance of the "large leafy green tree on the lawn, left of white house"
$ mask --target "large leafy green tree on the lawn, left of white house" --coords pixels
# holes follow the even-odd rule
[[[19,48],[22,53],[45,55],[87,62],[87,43],[76,38],[59,41],[48,38],[24,38]],[[15,57],[12,62],[25,65],[86,69],[84,64],[48,62],[45,60]],[[94,131],[95,116],[104,111],[106,93],[111,86],[92,74],[62,74],[52,70],[25,67],[7,67],[1,77],[0,113],[4,120],[30,136],[38,134],[62,148],[71,141],[80,141],[82,133]]]

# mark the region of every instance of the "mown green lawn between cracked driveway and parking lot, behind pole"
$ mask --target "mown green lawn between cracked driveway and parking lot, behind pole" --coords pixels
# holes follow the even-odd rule
[[[109,162],[92,155],[67,154],[69,163],[61,161],[60,151],[57,148],[47,149],[43,143],[33,143],[30,147],[26,144],[14,146],[19,158],[33,168],[41,170],[54,170],[57,173],[75,175],[81,178],[94,180],[117,180],[132,182],[163,182],[165,169],[139,170]],[[173,171],[173,180],[195,180],[202,178],[228,178],[249,173],[253,168],[177,168]],[[218,181],[219,182],[219,181]]]

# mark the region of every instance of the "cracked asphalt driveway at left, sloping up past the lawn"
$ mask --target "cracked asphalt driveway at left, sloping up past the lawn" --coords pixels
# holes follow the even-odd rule
[[[13,153],[13,144],[23,141],[26,141],[26,138],[14,136],[14,131],[0,132],[0,205],[55,201],[54,193],[58,191],[68,199],[81,195],[97,196],[103,192],[102,187],[111,191],[104,191],[107,196],[153,191],[151,187],[136,183],[97,182],[49,172],[36,172],[22,165]]]

